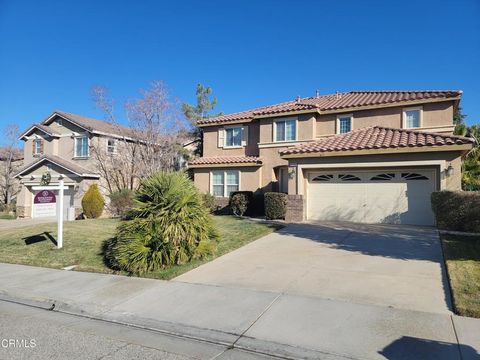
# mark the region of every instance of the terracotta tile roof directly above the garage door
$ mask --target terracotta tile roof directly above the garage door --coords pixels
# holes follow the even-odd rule
[[[473,139],[461,136],[372,126],[354,130],[346,134],[335,135],[323,140],[292,146],[280,151],[280,155],[329,151],[462,145],[472,144],[474,142]]]

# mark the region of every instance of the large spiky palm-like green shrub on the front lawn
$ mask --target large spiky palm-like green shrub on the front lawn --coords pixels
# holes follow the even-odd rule
[[[218,240],[201,194],[182,172],[158,172],[144,179],[128,218],[119,225],[107,257],[131,273],[206,256]]]

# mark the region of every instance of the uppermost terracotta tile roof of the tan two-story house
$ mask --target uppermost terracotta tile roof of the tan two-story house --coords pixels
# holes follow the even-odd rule
[[[255,117],[304,110],[321,112],[418,100],[452,99],[458,98],[461,95],[462,91],[460,90],[350,91],[346,93],[299,98],[297,100],[287,101],[280,104],[263,106],[256,109],[200,120],[198,124],[209,125],[232,121],[250,121]]]

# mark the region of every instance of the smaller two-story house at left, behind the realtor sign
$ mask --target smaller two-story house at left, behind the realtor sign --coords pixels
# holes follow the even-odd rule
[[[50,184],[63,179],[65,191],[65,218],[82,212],[81,199],[92,183],[102,185],[98,162],[92,148],[103,149],[115,156],[122,142],[131,141],[132,130],[123,126],[87,118],[63,111],[55,111],[40,124],[33,124],[20,139],[24,141],[24,167],[15,175],[21,189],[17,196],[17,216],[21,218],[52,215],[35,211],[34,197],[42,176],[48,173]],[[121,159],[120,159],[121,160]],[[103,190],[104,187],[100,186]],[[69,209],[73,208],[73,211]],[[73,215],[74,214],[74,215]]]

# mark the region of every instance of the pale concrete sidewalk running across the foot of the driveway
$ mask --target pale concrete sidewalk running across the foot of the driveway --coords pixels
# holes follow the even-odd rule
[[[10,264],[0,284],[2,300],[284,358],[480,357],[480,320],[448,314]]]

